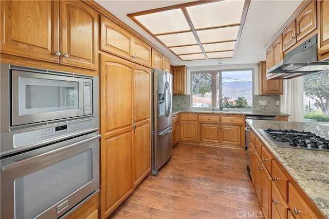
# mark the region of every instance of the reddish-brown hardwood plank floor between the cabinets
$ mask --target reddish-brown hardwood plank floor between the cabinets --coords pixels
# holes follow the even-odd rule
[[[109,218],[259,218],[247,160],[245,150],[178,143]]]

